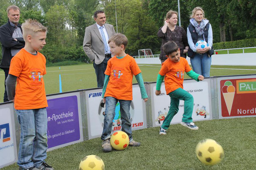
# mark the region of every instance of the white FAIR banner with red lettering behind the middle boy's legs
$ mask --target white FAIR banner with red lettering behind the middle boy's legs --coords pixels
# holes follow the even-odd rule
[[[104,111],[101,106],[103,102],[102,88],[86,91],[86,112],[88,122],[88,137],[93,139],[100,137],[104,127]],[[132,85],[132,103],[130,106],[130,115],[132,130],[147,128],[146,107],[138,85]],[[113,120],[112,132],[121,130],[121,113],[119,102],[115,108],[115,117]]]

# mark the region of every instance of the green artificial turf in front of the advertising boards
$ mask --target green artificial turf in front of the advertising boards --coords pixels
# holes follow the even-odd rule
[[[55,170],[78,170],[83,157],[97,155],[106,170],[255,170],[256,117],[196,122],[199,130],[179,124],[171,125],[167,135],[159,136],[159,127],[133,131],[140,147],[127,147],[104,153],[101,139],[49,151],[47,163]],[[224,149],[223,160],[214,166],[202,164],[196,157],[196,144],[201,139],[214,139]],[[17,164],[3,170],[17,170]]]

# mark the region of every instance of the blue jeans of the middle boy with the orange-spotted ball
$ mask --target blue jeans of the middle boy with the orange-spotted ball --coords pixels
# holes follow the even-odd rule
[[[121,112],[121,126],[122,131],[127,133],[129,136],[129,142],[132,142],[132,127],[130,122],[130,105],[131,100],[118,100],[115,97],[106,97],[106,110],[104,115],[104,127],[101,135],[102,140],[110,138],[110,133],[112,130],[112,122],[115,117],[115,107],[117,102],[120,103]]]

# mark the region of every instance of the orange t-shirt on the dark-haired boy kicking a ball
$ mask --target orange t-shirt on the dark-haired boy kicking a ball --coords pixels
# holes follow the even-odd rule
[[[169,58],[165,60],[159,71],[159,74],[164,77],[164,85],[166,94],[175,91],[178,88],[183,88],[184,73],[192,69],[188,65],[187,59],[180,57],[179,62],[173,62]]]

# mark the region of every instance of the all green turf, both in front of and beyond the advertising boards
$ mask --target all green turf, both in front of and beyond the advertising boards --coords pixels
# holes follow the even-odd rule
[[[140,65],[144,82],[155,82],[161,65]],[[96,77],[92,64],[48,67],[45,81],[46,94],[59,92],[59,74],[62,90],[95,88]],[[211,76],[256,74],[255,66],[211,66]],[[185,75],[185,79],[189,78]],[[3,101],[4,72],[0,71],[0,101]],[[136,83],[136,80],[133,80]],[[55,170],[78,170],[87,155],[103,159],[106,170],[255,170],[256,169],[256,117],[220,119],[196,122],[199,130],[171,125],[166,136],[159,136],[159,127],[133,131],[140,147],[103,153],[101,139],[91,139],[48,152],[47,163]],[[195,154],[196,144],[205,138],[214,139],[224,149],[220,164],[206,166]],[[3,170],[17,170],[17,164]]]

